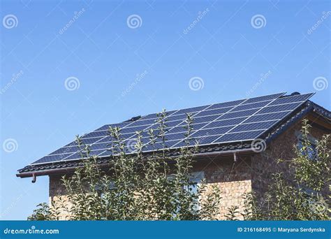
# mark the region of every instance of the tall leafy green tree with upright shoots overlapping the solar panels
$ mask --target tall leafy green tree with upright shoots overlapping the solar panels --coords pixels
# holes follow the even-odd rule
[[[186,115],[184,147],[175,158],[168,156],[166,116],[163,110],[156,119],[157,129],[148,131],[149,156],[142,154],[145,132],[136,132],[135,143],[128,145],[132,141],[124,140],[121,129],[110,128],[112,160],[105,168],[78,137],[83,166],[62,179],[67,199],[50,208],[41,204],[29,219],[60,219],[59,212],[64,211],[69,212],[66,219],[71,220],[216,219],[221,202],[219,187],[207,187],[205,182],[196,185],[191,180],[198,149],[197,144],[191,147],[192,116]],[[132,151],[134,154],[129,154]]]

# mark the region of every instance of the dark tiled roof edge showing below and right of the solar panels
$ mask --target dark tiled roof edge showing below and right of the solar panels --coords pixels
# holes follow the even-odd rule
[[[304,117],[307,117],[307,119],[314,124],[318,124],[318,126],[323,126],[323,129],[327,129],[327,131],[331,130],[330,111],[318,106],[314,102],[307,101],[302,108],[293,112],[293,114],[287,117],[283,122],[280,122],[276,129],[267,131],[261,138],[265,140],[266,145],[269,145],[274,138],[277,138],[281,133],[295,124],[295,122],[299,122]],[[178,150],[170,152],[168,158],[178,157],[179,154]],[[243,154],[256,154],[251,148],[251,142],[246,141],[236,142],[235,144],[207,145],[207,147],[199,147],[199,152],[195,154],[195,157],[203,159],[207,157],[227,157],[233,155],[235,158],[236,155],[239,156]],[[98,165],[100,167],[109,167],[109,161],[109,157],[100,158]],[[16,176],[20,178],[35,178],[36,176],[41,175],[70,174],[75,171],[75,168],[80,168],[82,166],[83,164],[81,160],[61,161],[59,163],[45,164],[39,167],[38,165],[30,165],[26,168],[22,168],[20,173],[17,173]]]

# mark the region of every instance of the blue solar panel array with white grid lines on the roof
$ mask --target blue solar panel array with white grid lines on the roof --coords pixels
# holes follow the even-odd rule
[[[215,103],[208,106],[172,110],[167,112],[165,146],[175,149],[185,145],[186,113],[193,115],[193,131],[191,133],[191,145],[198,141],[199,145],[213,145],[220,143],[233,143],[237,141],[254,140],[265,131],[280,122],[307,101],[313,94],[297,94],[284,96],[285,93],[259,96],[251,99]],[[82,136],[82,142],[90,145],[91,155],[109,157],[112,136],[109,135],[109,127],[119,126],[122,129],[122,138],[128,146],[126,150],[133,152],[132,142],[135,132],[142,131],[142,143],[144,152],[161,150],[163,144],[161,138],[154,145],[149,142],[148,130],[158,132],[159,124],[156,122],[156,114],[145,115],[134,122],[119,124],[107,124],[101,128]],[[80,159],[77,143],[74,141],[61,147],[59,150],[35,161],[34,164],[46,164],[58,161],[70,161]]]

